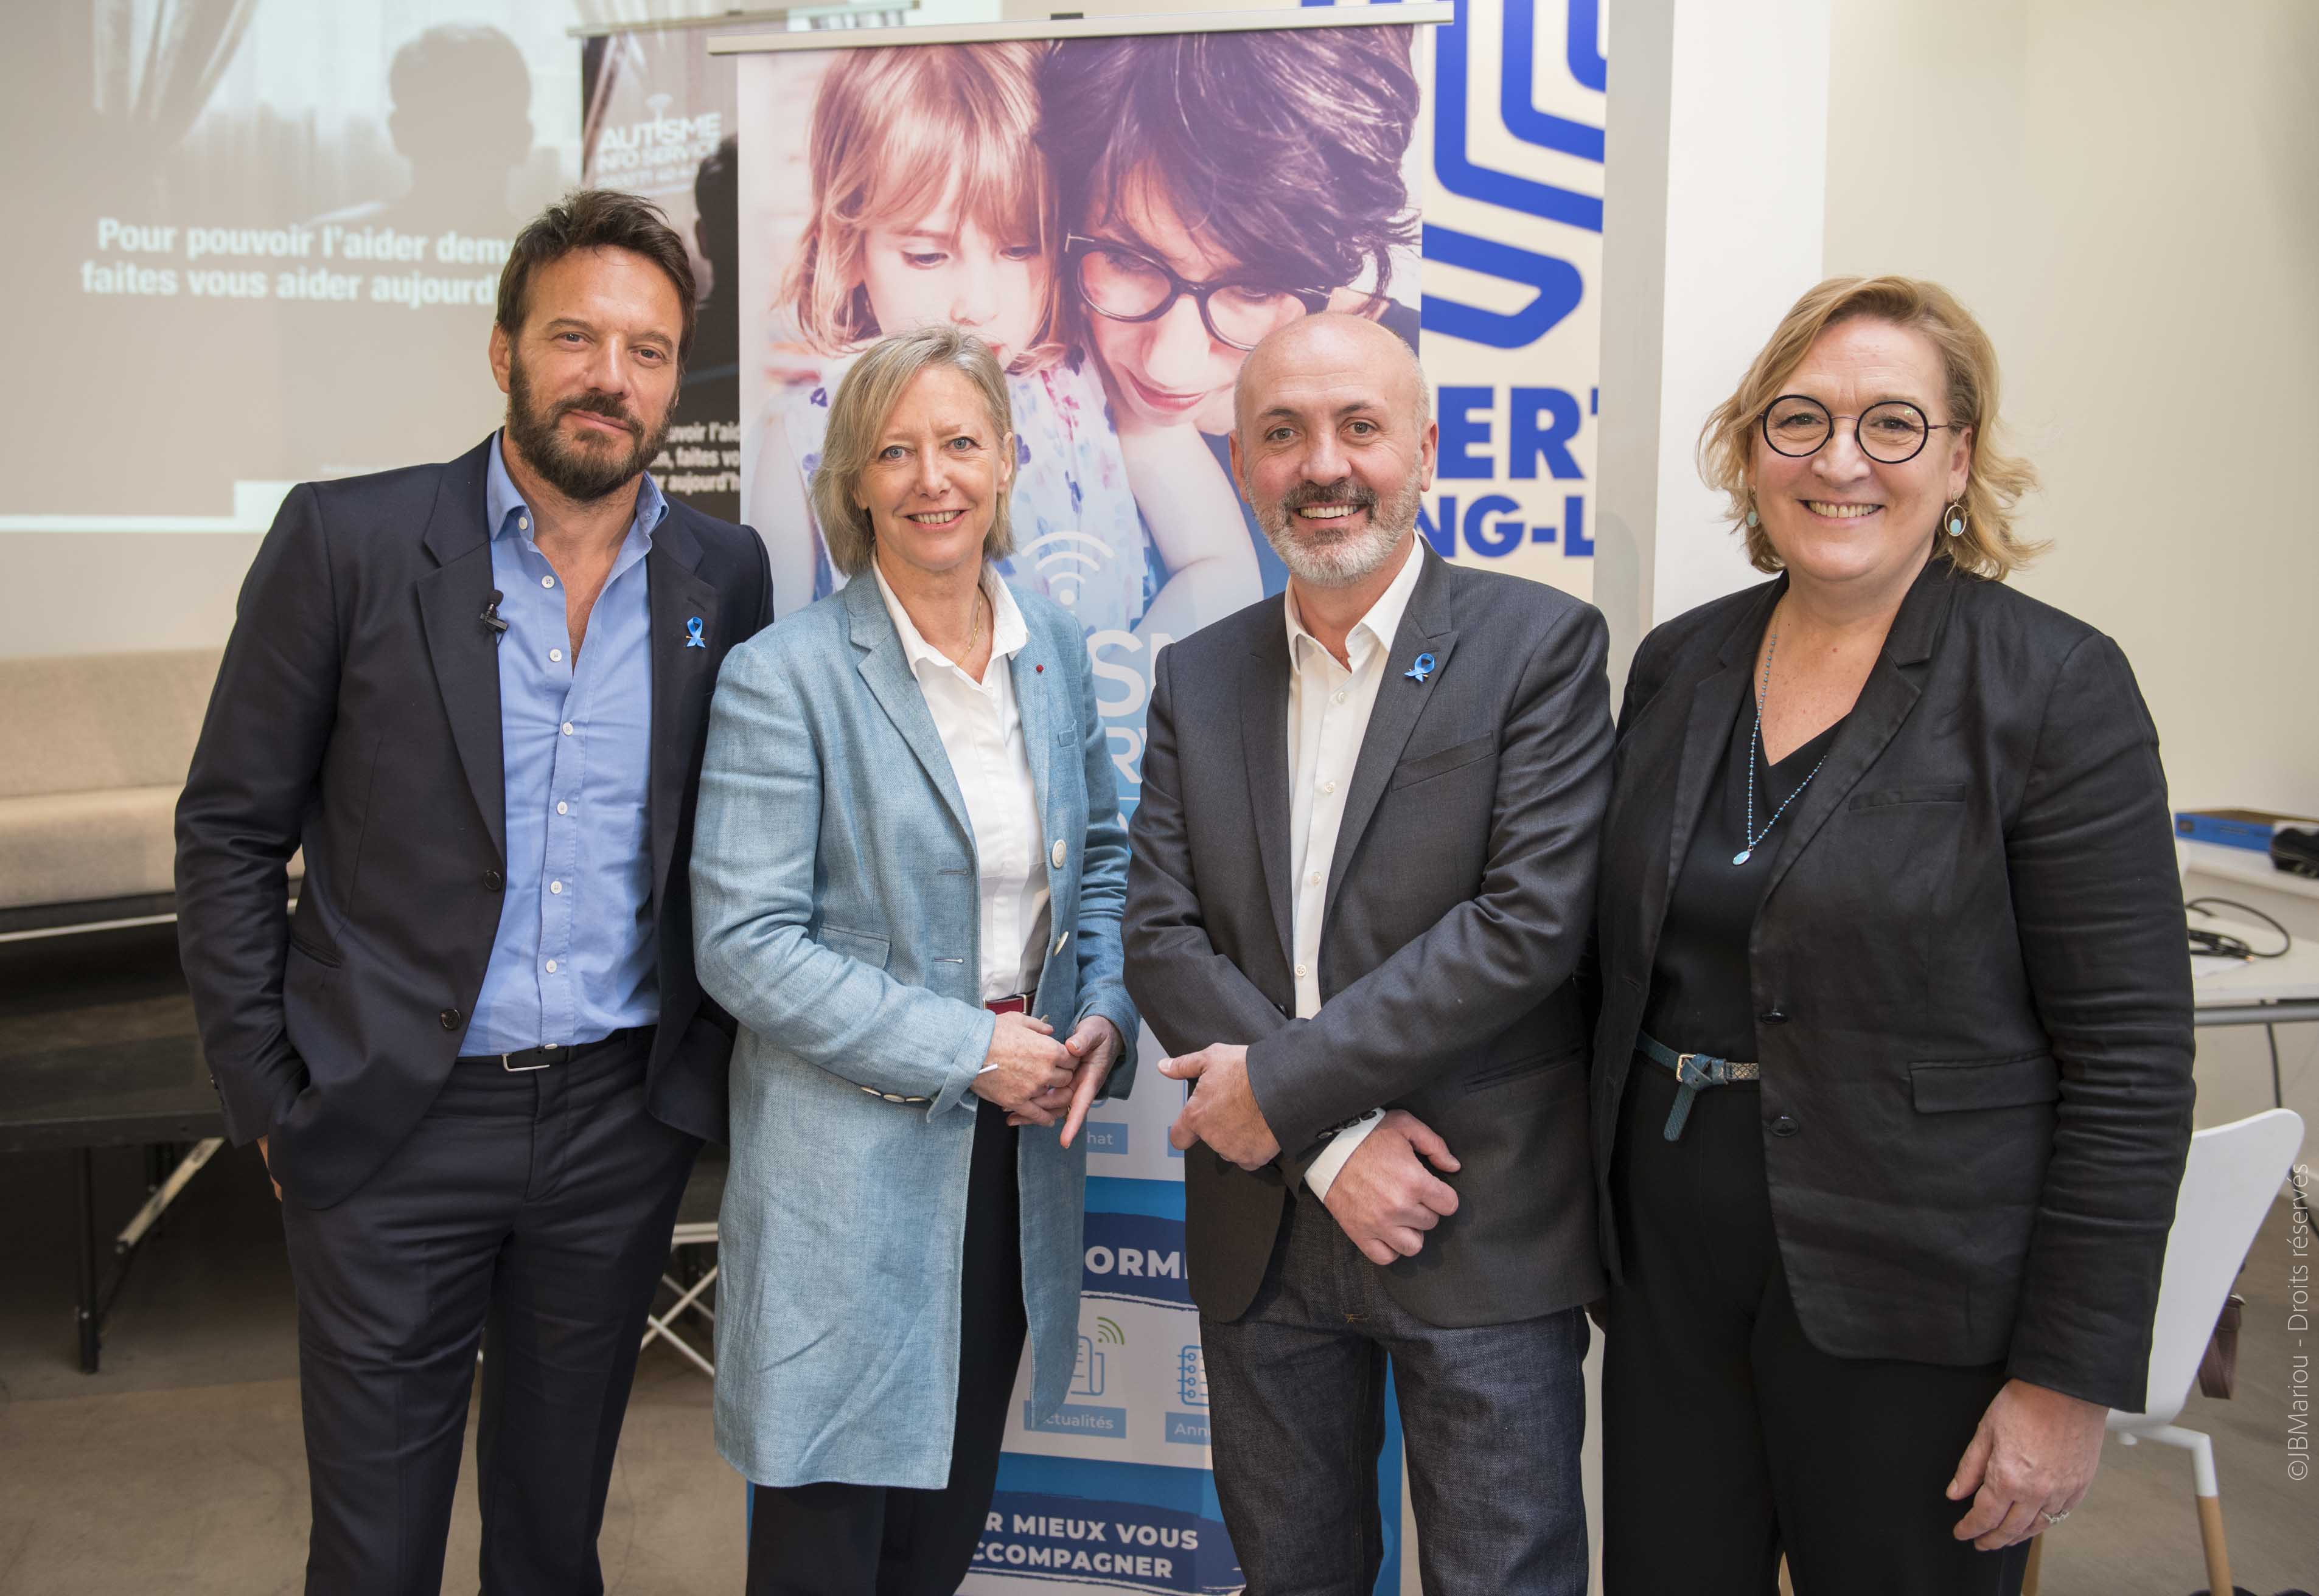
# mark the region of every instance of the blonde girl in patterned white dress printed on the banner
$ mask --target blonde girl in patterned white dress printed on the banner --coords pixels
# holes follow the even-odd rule
[[[1090,632],[1136,628],[1169,579],[1150,554],[1102,380],[1060,343],[1060,236],[1034,141],[1044,49],[839,51],[821,76],[812,202],[782,283],[782,308],[819,368],[768,405],[749,505],[770,533],[784,612],[839,586],[805,493],[830,394],[860,347],[928,322],[974,331],[1009,371],[1016,554],[999,570],[1069,607]],[[1185,507],[1166,510],[1155,521],[1187,519]],[[1220,544],[1245,544],[1229,493],[1197,514]],[[1180,554],[1178,570],[1199,558],[1162,554]]]

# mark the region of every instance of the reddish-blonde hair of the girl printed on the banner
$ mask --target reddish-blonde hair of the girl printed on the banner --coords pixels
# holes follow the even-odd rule
[[[837,51],[814,95],[807,132],[812,208],[782,301],[821,354],[842,354],[879,334],[863,290],[863,234],[907,222],[958,197],[958,220],[995,239],[1039,246],[1046,292],[1018,371],[1062,352],[1062,255],[1055,185],[1039,151],[1039,58],[1044,44],[911,44]]]

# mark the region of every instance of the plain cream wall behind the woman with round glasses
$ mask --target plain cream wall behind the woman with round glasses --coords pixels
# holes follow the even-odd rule
[[[1827,271],[1939,278],[2178,806],[2319,808],[2319,7],[1837,0]]]

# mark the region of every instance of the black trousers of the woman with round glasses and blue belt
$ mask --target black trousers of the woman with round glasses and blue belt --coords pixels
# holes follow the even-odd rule
[[[2001,1364],[1832,1357],[1772,1232],[1755,1082],[1702,1091],[1637,1056],[1612,1163],[1623,1281],[1602,1357],[1605,1596],[2013,1596],[2029,1547],[1950,1536],[1943,1494]]]

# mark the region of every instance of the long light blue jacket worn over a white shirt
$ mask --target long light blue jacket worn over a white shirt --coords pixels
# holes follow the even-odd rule
[[[1053,924],[1034,1015],[1125,1042],[1127,829],[1078,623],[1013,588],[1023,744]],[[948,1482],[960,1249],[990,1047],[974,836],[874,579],[733,649],[693,834],[700,987],[740,1019],[719,1221],[717,1450],[758,1485]],[[928,1098],[900,1103],[897,1098]],[[1078,1344],[1088,1144],[1025,1128],[1032,1401],[1062,1406]]]

